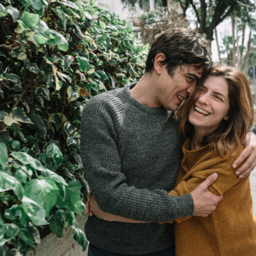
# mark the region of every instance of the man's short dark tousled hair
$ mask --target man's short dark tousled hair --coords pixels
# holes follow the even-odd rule
[[[155,39],[147,55],[145,72],[153,70],[154,59],[158,53],[165,55],[163,64],[167,64],[167,72],[171,76],[176,66],[182,64],[203,67],[204,75],[212,67],[212,53],[207,42],[199,33],[187,28],[174,28]]]

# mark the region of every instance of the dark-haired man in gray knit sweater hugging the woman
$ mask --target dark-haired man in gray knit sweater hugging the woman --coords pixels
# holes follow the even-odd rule
[[[209,176],[191,194],[167,194],[174,188],[183,143],[173,111],[210,68],[210,49],[199,34],[174,29],[156,39],[137,84],[102,93],[86,103],[81,154],[100,209],[152,221],[117,223],[89,217],[85,226],[89,256],[174,255],[172,226],[158,222],[206,217],[222,199],[207,190],[217,175]],[[246,150],[242,159],[253,151]],[[246,173],[254,160],[255,152],[243,167]]]

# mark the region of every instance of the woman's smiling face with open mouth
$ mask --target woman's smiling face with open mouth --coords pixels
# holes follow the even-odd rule
[[[196,93],[188,120],[203,136],[212,133],[222,120],[228,121],[228,84],[223,77],[208,77]]]

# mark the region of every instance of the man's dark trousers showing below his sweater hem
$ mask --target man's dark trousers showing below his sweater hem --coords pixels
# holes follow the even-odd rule
[[[111,253],[107,250],[103,250],[93,246],[93,244],[89,244],[88,248],[88,256],[136,256],[136,255],[126,255],[120,253]],[[164,250],[158,251],[156,253],[143,254],[141,256],[175,256],[175,246],[171,246]]]

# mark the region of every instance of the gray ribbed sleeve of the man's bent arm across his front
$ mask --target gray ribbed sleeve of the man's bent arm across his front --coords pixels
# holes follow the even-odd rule
[[[194,202],[190,194],[169,196],[165,190],[136,188],[132,183],[127,184],[123,172],[125,163],[120,157],[120,148],[125,145],[120,145],[122,131],[116,127],[117,122],[124,122],[123,115],[118,116],[113,111],[118,109],[117,105],[111,102],[104,104],[102,99],[103,96],[92,98],[86,103],[81,126],[81,156],[86,179],[100,208],[105,212],[142,221],[170,221],[191,215]],[[127,108],[122,111],[129,111],[128,105],[122,108]],[[134,153],[138,154],[136,151]],[[132,163],[133,159],[130,161]],[[135,172],[138,172],[135,179],[143,179],[140,178],[140,170]],[[148,172],[154,170],[149,167]]]

